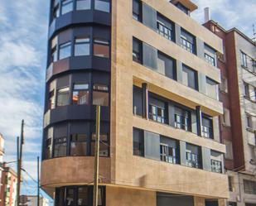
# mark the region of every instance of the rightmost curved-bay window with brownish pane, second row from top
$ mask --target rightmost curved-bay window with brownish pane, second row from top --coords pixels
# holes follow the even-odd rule
[[[109,58],[109,41],[95,39],[94,55]]]

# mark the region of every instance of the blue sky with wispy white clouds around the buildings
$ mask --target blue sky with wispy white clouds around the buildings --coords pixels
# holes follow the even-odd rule
[[[237,27],[253,37],[255,0],[192,1],[199,6],[191,15],[196,21],[203,23],[204,7],[210,7],[215,22],[226,29]],[[36,156],[41,156],[49,2],[0,0],[0,133],[5,137],[4,160],[16,160],[16,138],[24,119],[23,167],[34,179]],[[13,163],[9,165],[16,168]],[[36,194],[35,182],[23,175],[22,193]]]

